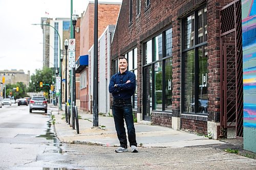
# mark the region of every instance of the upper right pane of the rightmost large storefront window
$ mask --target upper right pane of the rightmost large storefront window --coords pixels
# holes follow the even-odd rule
[[[207,41],[207,8],[198,11],[198,43]]]

